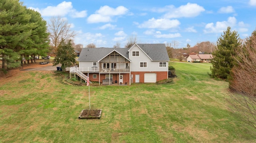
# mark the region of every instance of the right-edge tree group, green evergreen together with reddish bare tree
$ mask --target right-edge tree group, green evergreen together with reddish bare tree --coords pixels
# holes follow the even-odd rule
[[[242,40],[228,27],[212,55],[209,75],[229,82],[230,110],[256,128],[256,30]]]

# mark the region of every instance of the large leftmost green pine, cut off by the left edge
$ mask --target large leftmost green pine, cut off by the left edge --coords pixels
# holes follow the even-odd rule
[[[2,57],[2,69],[17,67],[19,59],[17,53],[26,48],[31,40],[33,24],[29,23],[31,16],[26,8],[18,0],[0,0],[0,56]],[[22,53],[21,53],[22,54]],[[22,57],[20,58],[20,60]]]

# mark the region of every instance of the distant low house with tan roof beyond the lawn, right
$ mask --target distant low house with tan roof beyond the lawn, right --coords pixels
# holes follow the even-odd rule
[[[201,61],[202,63],[210,63],[211,60],[212,60],[212,54],[189,55],[187,58],[188,62]]]

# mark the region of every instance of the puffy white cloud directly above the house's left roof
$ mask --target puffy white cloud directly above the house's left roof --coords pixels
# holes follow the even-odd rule
[[[114,16],[121,16],[128,13],[128,9],[124,6],[110,8],[109,6],[101,6],[99,10],[88,17],[88,23],[111,22]]]

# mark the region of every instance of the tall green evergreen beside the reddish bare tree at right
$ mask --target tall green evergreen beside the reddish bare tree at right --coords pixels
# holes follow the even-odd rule
[[[231,31],[228,27],[224,34],[218,38],[217,49],[212,53],[212,71],[213,78],[227,79],[234,66],[234,50],[240,46],[240,38],[236,31]]]

